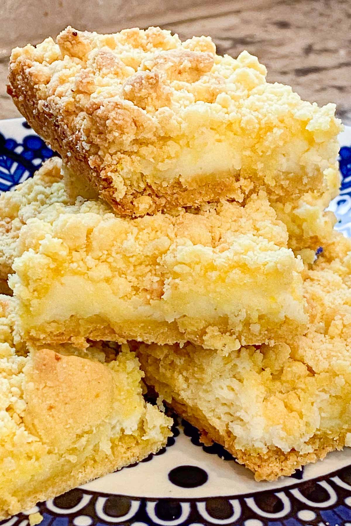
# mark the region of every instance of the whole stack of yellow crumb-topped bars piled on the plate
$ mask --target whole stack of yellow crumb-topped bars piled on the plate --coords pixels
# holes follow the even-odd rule
[[[8,92],[62,159],[0,197],[0,518],[162,448],[145,385],[256,480],[350,446],[335,106],[155,27],[16,48]]]

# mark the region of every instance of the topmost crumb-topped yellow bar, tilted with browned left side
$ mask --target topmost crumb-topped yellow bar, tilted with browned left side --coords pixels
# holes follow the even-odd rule
[[[335,105],[319,108],[247,52],[216,54],[158,27],[67,27],[15,48],[8,92],[28,123],[121,215],[265,189],[295,203],[338,177]]]

